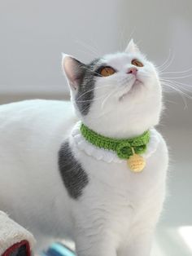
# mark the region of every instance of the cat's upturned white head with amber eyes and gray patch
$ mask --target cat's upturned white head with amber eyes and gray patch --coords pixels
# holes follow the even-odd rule
[[[124,52],[104,55],[90,64],[63,55],[62,65],[76,113],[90,129],[124,138],[158,124],[159,76],[133,40]]]

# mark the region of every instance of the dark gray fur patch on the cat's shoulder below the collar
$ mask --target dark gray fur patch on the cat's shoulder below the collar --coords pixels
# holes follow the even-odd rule
[[[89,183],[88,175],[76,158],[68,142],[63,143],[59,150],[59,171],[69,196],[77,199]]]

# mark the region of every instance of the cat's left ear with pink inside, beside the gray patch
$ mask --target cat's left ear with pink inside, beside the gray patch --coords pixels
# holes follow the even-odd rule
[[[85,73],[85,64],[70,55],[63,54],[62,68],[72,90],[77,90]]]

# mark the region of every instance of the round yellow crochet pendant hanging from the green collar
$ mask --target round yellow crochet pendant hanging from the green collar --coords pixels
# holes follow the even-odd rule
[[[135,153],[134,148],[132,148],[132,151],[133,151],[133,156],[129,157],[127,164],[130,170],[132,170],[135,173],[139,173],[146,166],[146,161],[142,156],[137,155]]]

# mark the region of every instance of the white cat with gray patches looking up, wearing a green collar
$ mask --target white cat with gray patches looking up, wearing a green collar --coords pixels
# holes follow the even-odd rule
[[[62,67],[72,103],[0,107],[0,210],[33,232],[38,249],[69,237],[78,256],[149,256],[168,170],[168,149],[154,128],[163,108],[155,65],[131,40],[124,52],[90,64],[63,55]],[[81,123],[117,141],[149,130],[144,169],[90,143]]]

